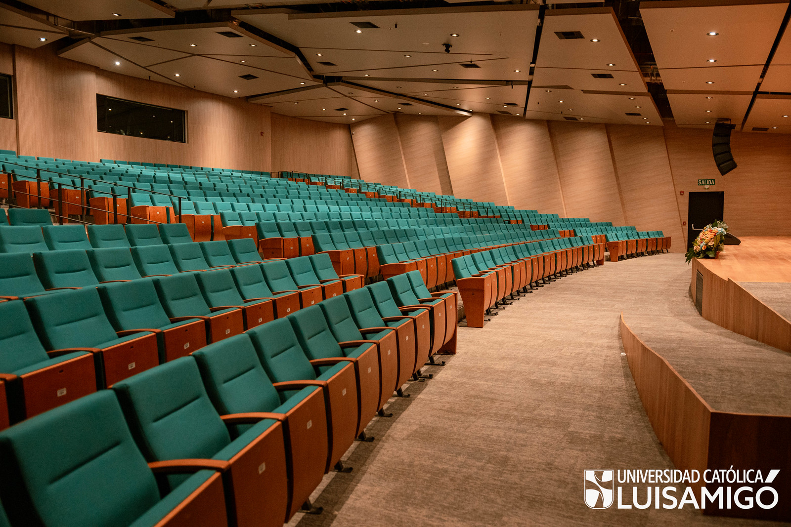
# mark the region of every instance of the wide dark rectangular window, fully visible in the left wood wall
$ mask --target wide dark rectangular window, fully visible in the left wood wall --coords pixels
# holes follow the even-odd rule
[[[97,94],[98,130],[108,134],[187,142],[187,112]]]

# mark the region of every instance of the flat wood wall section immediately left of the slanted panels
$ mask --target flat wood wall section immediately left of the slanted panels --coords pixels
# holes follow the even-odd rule
[[[272,171],[354,177],[349,126],[272,113]]]

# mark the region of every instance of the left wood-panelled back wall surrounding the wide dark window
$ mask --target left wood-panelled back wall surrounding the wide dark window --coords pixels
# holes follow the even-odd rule
[[[0,119],[0,149],[87,161],[357,176],[346,125],[292,119],[263,104],[99,70],[60,58],[51,47],[0,44],[0,72],[15,76],[17,93],[17,119]],[[98,132],[97,93],[186,110],[187,142]]]

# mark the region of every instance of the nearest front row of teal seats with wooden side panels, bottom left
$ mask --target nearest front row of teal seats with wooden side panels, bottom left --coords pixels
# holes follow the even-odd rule
[[[0,433],[9,525],[34,518],[122,527],[288,521],[309,506],[329,467],[343,468],[340,457],[361,423],[398,382],[395,333],[406,326],[413,343],[420,333],[417,317],[399,316],[388,284],[333,301]],[[396,315],[384,316],[397,320],[379,314],[388,304]],[[362,341],[372,333],[378,338]],[[40,463],[42,450],[58,462]],[[126,490],[104,496],[107,485]]]

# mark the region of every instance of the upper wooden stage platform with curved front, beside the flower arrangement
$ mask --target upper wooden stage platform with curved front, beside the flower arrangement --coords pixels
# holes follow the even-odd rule
[[[719,258],[691,263],[690,295],[703,318],[791,352],[791,322],[738,284],[791,282],[791,236],[744,238],[740,245],[726,246]]]

